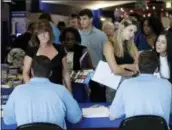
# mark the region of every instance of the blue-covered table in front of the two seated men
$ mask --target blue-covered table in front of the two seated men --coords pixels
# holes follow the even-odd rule
[[[86,108],[86,107],[90,107],[91,105],[94,105],[95,103],[80,103],[80,107],[81,108]],[[97,104],[97,103],[96,103]],[[108,106],[109,103],[99,103],[99,105],[104,105],[104,106]],[[95,129],[95,128],[119,128],[119,125],[121,123],[121,121],[124,119],[120,118],[120,119],[116,119],[116,120],[109,120],[108,117],[106,118],[83,118],[81,122],[77,123],[77,124],[71,124],[67,122],[67,128],[72,129],[78,129],[78,128],[89,128],[89,129]],[[1,125],[2,125],[2,129],[3,130],[14,130],[16,128],[16,125],[5,125],[3,121],[1,121]],[[172,115],[170,116],[170,125],[172,125]]]

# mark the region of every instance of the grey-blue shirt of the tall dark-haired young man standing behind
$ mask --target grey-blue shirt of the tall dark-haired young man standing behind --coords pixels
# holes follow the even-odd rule
[[[82,42],[90,54],[93,66],[96,67],[100,60],[103,60],[103,47],[108,41],[106,34],[93,27],[90,32],[80,31]]]

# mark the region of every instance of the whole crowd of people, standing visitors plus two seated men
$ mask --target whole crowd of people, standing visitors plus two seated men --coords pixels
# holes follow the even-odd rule
[[[66,129],[65,119],[82,121],[82,111],[72,97],[70,72],[96,69],[101,60],[122,80],[117,90],[90,80],[91,102],[112,102],[110,119],[158,115],[169,123],[172,21],[164,28],[158,17],[128,16],[115,24],[105,21],[100,30],[93,19],[92,11],[84,9],[71,15],[69,27],[64,22],[56,26],[43,13],[16,38],[13,48],[24,51],[25,83],[9,97],[6,124],[49,122]]]

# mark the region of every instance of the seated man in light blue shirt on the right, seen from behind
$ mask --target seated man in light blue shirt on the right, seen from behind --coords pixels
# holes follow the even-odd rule
[[[171,87],[169,81],[153,75],[158,67],[157,55],[143,51],[139,56],[140,74],[126,79],[110,106],[110,119],[137,115],[157,115],[169,123]]]

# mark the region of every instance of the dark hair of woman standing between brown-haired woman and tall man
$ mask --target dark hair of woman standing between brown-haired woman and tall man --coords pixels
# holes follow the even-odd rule
[[[65,41],[65,36],[66,36],[66,33],[68,33],[68,32],[74,34],[75,40],[78,43],[81,43],[81,36],[80,36],[78,30],[73,27],[68,27],[62,32],[62,34],[60,35],[60,42]]]

